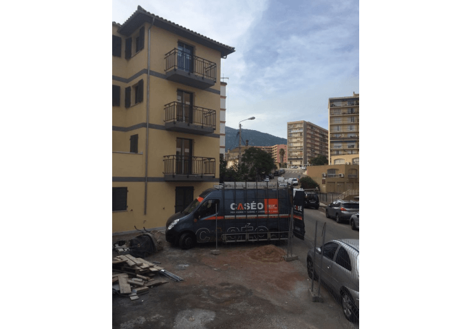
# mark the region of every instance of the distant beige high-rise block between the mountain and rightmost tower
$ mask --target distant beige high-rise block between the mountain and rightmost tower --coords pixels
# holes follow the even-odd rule
[[[287,164],[307,165],[319,155],[328,158],[328,130],[303,120],[287,123]]]

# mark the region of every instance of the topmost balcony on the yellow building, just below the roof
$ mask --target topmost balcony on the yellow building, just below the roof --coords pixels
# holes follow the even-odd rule
[[[216,83],[216,63],[174,48],[165,55],[167,80],[200,89]]]

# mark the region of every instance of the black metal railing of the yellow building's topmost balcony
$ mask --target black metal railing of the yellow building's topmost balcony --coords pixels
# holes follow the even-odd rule
[[[216,83],[216,63],[187,52],[182,52],[182,50],[177,48],[174,48],[165,55],[165,61],[166,72],[169,70],[183,70],[211,79]]]

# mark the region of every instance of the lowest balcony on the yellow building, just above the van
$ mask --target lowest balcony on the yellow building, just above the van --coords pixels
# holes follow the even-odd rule
[[[166,182],[208,182],[215,178],[215,158],[201,156],[164,156]]]

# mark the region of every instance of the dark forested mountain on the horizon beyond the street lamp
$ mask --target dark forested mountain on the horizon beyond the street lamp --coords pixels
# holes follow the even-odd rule
[[[235,147],[239,146],[238,136],[239,129],[233,129],[230,127],[225,127],[225,135],[226,135],[226,146],[225,151],[228,149],[234,149]],[[273,136],[266,133],[261,133],[257,130],[251,129],[241,129],[241,145],[246,145],[246,139],[249,140],[250,146],[272,146],[277,144],[285,144],[287,145],[286,138],[280,138],[277,136]]]

